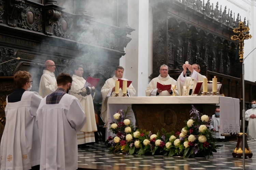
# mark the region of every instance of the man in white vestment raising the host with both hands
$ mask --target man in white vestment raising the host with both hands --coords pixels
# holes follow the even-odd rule
[[[201,75],[200,66],[198,64],[183,64],[183,71],[177,80],[177,86],[180,96],[193,96],[197,82],[203,81],[203,78],[206,78],[204,75]],[[187,69],[191,72],[191,77],[187,77]],[[186,89],[183,88],[186,86]],[[185,95],[186,91],[186,95]]]

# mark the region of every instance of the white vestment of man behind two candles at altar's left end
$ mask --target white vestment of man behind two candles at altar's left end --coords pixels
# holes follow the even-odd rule
[[[101,88],[101,95],[102,95],[102,105],[101,105],[101,118],[102,120],[105,122],[105,125],[108,124],[108,115],[106,114],[106,105],[107,105],[107,101],[108,98],[112,95],[112,88],[115,87],[115,82],[118,80],[117,77],[115,77],[115,75],[106,80],[105,84],[102,86]],[[122,80],[126,80],[122,78]],[[113,91],[115,92],[115,91]],[[132,84],[130,84],[129,87],[127,87],[127,93],[129,97],[134,97],[136,94],[136,90],[134,89],[134,87],[132,86]],[[119,88],[119,96],[123,95],[123,90],[121,88]]]

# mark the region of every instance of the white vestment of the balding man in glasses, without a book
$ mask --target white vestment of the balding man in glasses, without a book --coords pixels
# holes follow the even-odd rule
[[[41,76],[38,93],[42,98],[51,94],[57,89],[55,74],[51,71],[44,70]]]

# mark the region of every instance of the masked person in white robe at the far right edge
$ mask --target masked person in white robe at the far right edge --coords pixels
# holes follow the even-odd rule
[[[252,108],[245,112],[245,120],[248,121],[247,139],[256,140],[256,100],[251,101]]]

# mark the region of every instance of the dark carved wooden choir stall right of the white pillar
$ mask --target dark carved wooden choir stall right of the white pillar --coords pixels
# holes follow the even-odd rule
[[[204,3],[205,2],[205,3]],[[221,2],[220,2],[221,3]],[[217,77],[221,93],[241,99],[239,42],[230,39],[241,16],[227,6],[213,6],[210,0],[150,1],[153,13],[153,70],[168,64],[177,79],[185,61],[197,63],[208,80]],[[246,25],[244,18],[244,25]],[[256,83],[245,81],[246,107],[256,98]]]

